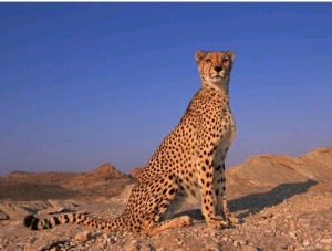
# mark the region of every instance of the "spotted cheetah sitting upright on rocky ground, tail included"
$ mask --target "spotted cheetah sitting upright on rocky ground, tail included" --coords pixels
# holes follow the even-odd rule
[[[193,224],[188,216],[173,216],[191,195],[200,197],[201,212],[209,227],[221,229],[238,223],[227,208],[225,196],[225,158],[236,134],[228,95],[235,54],[232,51],[198,51],[195,60],[201,87],[179,124],[146,164],[121,216],[100,220],[75,212],[50,219],[30,215],[24,218],[24,226],[41,230],[76,223],[110,232],[155,236]]]

